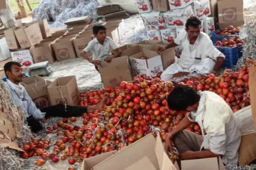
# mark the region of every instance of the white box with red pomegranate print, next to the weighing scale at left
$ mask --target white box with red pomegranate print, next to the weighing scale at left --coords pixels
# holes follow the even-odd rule
[[[22,68],[28,68],[34,63],[33,58],[28,49],[20,49],[11,52],[11,57],[13,61],[21,64]]]

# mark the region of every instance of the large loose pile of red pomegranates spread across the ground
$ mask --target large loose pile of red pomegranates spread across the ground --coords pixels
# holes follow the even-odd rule
[[[24,145],[22,158],[40,155],[39,166],[45,159],[58,162],[68,159],[70,165],[81,162],[84,158],[92,157],[129,145],[143,136],[160,131],[164,141],[166,133],[177,126],[187,115],[186,112],[169,110],[166,97],[175,85],[187,85],[197,90],[209,90],[220,95],[233,112],[250,105],[248,76],[249,68],[244,65],[238,72],[225,70],[220,77],[213,74],[208,76],[190,77],[179,83],[165,82],[159,77],[135,77],[132,82],[121,82],[120,87],[81,94],[80,106],[96,105],[104,94],[109,96],[102,111],[85,113],[83,127],[68,124],[76,122],[76,118],[63,118],[57,125],[50,127],[48,133],[57,131],[59,139],[55,141],[52,153],[48,149],[47,139],[32,141]],[[201,135],[201,129],[193,123],[188,130]],[[39,144],[40,143],[40,144]],[[66,146],[69,143],[70,146]],[[178,159],[174,154],[172,161]]]

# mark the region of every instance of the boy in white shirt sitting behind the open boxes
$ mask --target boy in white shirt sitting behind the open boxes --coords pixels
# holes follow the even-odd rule
[[[121,55],[122,50],[118,48],[113,55],[111,54],[111,48],[116,49],[117,46],[110,37],[106,36],[107,29],[104,26],[96,25],[92,30],[95,38],[83,49],[81,56],[93,63],[98,70],[101,61],[111,62],[112,58]],[[87,55],[88,52],[93,52],[92,58]]]

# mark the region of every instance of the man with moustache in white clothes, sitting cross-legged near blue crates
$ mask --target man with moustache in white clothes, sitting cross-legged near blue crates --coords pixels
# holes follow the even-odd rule
[[[178,37],[166,47],[159,47],[159,53],[163,50],[183,46],[180,58],[175,57],[175,62],[163,71],[161,78],[170,81],[174,77],[196,72],[198,74],[216,74],[222,65],[225,55],[214,47],[210,37],[200,32],[201,21],[196,17],[188,19],[186,29],[180,32]]]

